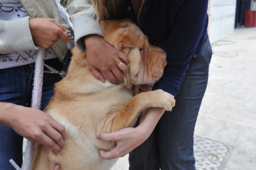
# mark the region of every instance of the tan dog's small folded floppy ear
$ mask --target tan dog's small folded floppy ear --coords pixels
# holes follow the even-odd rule
[[[132,33],[131,30],[124,31],[122,35],[120,35],[120,39],[117,44],[119,49],[123,49],[123,47],[131,47],[136,48],[141,46],[141,42],[139,39]]]

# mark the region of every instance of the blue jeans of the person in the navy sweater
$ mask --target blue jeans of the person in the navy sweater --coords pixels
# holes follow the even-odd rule
[[[163,114],[150,137],[129,154],[129,170],[195,170],[194,128],[211,57],[206,35],[199,59],[192,58],[189,63],[175,97],[176,105]]]

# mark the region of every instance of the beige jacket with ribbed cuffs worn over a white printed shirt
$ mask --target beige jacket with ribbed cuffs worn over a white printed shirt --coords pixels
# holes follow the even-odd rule
[[[29,29],[29,18],[53,18],[59,23],[65,23],[61,18],[55,0],[20,0],[27,10],[28,17],[11,21],[0,20],[0,53],[6,54],[23,50],[37,50]],[[61,0],[67,8],[70,20],[74,26],[75,44],[85,52],[83,37],[89,34],[103,35],[99,24],[95,25],[94,9],[90,0]],[[52,45],[53,52],[62,61],[67,53],[67,44],[58,40]]]

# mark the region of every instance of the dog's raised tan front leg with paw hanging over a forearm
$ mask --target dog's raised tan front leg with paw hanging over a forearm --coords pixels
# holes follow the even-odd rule
[[[163,107],[166,111],[171,111],[174,105],[174,96],[162,91],[161,89],[139,93],[134,96],[127,105],[125,105],[123,110],[114,118],[111,126],[111,132],[133,126],[139,113],[141,113],[144,108]]]

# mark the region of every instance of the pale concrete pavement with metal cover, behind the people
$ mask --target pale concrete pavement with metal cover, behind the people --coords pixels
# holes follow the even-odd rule
[[[256,27],[212,44],[195,128],[197,170],[256,170]],[[112,170],[128,170],[128,155]]]

